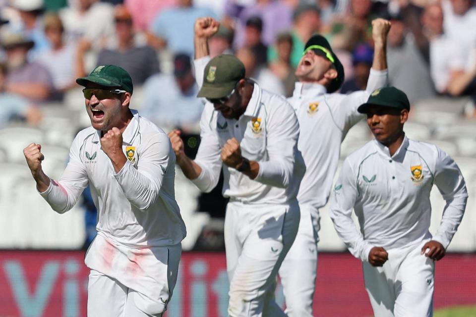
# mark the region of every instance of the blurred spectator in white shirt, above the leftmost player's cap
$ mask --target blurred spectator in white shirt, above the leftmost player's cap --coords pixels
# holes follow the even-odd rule
[[[98,0],[70,0],[60,10],[68,39],[79,41],[81,51],[103,48],[105,38],[114,34],[114,10],[110,3]]]

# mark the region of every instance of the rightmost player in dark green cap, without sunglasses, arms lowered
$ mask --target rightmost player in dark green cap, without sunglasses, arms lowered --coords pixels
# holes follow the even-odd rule
[[[331,218],[350,252],[363,262],[376,317],[432,316],[434,261],[445,256],[463,218],[465,180],[448,154],[407,138],[403,128],[410,103],[401,90],[377,89],[358,111],[367,115],[375,140],[344,161]],[[433,184],[446,206],[432,237]],[[353,209],[360,232],[351,218]]]

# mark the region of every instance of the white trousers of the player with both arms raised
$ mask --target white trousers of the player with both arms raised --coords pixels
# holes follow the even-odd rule
[[[312,317],[316,288],[319,211],[299,204],[301,218],[296,240],[279,269],[289,317]]]

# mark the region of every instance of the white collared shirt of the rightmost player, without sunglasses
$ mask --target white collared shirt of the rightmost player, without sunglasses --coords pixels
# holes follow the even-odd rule
[[[334,226],[362,261],[368,261],[374,246],[392,249],[419,243],[431,237],[433,184],[447,202],[433,240],[447,248],[466,208],[465,180],[441,149],[407,137],[393,156],[373,140],[344,161],[331,198]],[[351,218],[353,209],[360,232]]]

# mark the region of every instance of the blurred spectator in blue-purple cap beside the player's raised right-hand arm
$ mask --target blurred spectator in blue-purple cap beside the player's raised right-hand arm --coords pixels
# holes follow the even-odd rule
[[[365,90],[367,80],[370,75],[370,68],[373,61],[373,49],[367,43],[360,43],[354,48],[352,53],[352,64],[354,67],[352,78],[344,82],[341,93],[350,94],[355,91]]]

